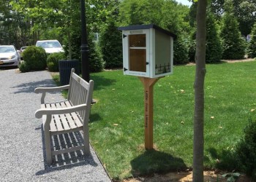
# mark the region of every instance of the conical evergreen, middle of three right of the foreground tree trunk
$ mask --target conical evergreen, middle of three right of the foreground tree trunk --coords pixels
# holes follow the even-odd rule
[[[246,45],[238,29],[236,17],[233,15],[232,1],[226,1],[225,3],[221,37],[223,41],[223,59],[244,58]]]

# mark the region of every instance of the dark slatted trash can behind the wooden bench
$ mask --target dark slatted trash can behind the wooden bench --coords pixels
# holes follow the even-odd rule
[[[70,72],[75,68],[75,73],[79,74],[78,60],[59,60],[59,77],[61,86],[69,84]]]

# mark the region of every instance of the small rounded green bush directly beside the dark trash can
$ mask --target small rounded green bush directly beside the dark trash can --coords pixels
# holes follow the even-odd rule
[[[59,71],[59,60],[65,59],[65,55],[62,52],[53,53],[48,55],[47,67],[49,71]]]

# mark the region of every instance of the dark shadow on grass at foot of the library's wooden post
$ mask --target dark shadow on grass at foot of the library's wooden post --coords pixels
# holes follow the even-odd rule
[[[139,157],[133,159],[131,165],[134,177],[187,169],[183,159],[154,149],[145,151]]]

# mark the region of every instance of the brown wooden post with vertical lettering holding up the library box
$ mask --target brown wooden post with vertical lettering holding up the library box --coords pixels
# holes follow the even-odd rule
[[[139,77],[144,85],[144,104],[145,104],[145,149],[153,149],[153,87],[159,78],[151,79]]]

